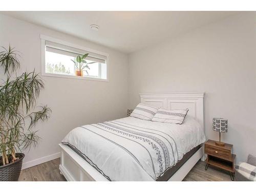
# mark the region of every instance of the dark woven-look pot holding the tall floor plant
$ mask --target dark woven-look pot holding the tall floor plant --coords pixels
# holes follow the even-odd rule
[[[19,159],[15,162],[0,166],[0,181],[18,181],[25,155],[23,153],[16,153],[16,157]],[[0,157],[0,162],[2,162],[2,157]]]

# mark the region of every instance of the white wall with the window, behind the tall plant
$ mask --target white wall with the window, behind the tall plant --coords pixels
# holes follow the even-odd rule
[[[109,53],[109,82],[43,77],[45,90],[38,104],[48,104],[52,115],[49,121],[36,125],[40,144],[26,153],[25,163],[58,153],[58,143],[76,126],[125,117],[128,103],[127,55],[0,14],[0,46],[10,43],[22,53],[21,71],[35,68],[40,72],[40,34]],[[2,68],[0,78],[4,78]]]

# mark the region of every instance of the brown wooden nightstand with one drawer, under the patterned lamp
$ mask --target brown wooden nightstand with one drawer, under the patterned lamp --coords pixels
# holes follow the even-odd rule
[[[234,180],[234,166],[236,155],[232,154],[232,144],[217,145],[216,141],[208,140],[204,143],[204,153],[207,154],[205,170],[213,165],[229,172],[230,179]]]

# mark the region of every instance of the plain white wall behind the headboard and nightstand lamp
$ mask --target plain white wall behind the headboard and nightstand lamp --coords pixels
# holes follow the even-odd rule
[[[237,161],[256,155],[255,35],[255,14],[242,13],[131,54],[130,108],[139,93],[204,91],[206,137],[218,140],[212,118],[227,118]]]

